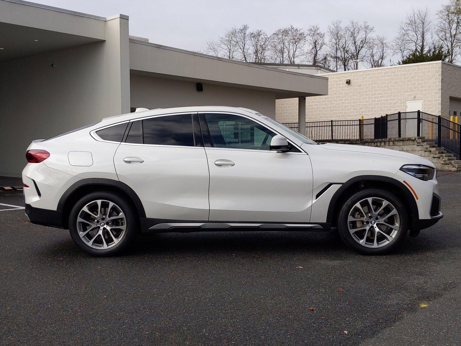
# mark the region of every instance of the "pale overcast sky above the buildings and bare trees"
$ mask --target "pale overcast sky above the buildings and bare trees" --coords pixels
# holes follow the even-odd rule
[[[32,0],[34,1],[34,0]],[[427,7],[434,16],[448,0],[35,0],[41,4],[101,17],[130,16],[130,35],[150,42],[201,50],[233,26],[272,31],[293,24],[326,30],[333,20],[366,20],[379,35],[395,36],[399,22],[412,7]]]

